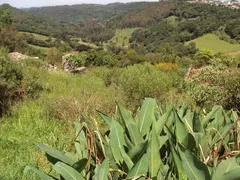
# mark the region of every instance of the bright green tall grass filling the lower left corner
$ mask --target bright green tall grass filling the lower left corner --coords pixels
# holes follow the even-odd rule
[[[70,148],[66,144],[73,137],[70,124],[47,121],[44,108],[32,100],[16,107],[11,117],[3,117],[0,132],[2,180],[25,179],[23,169],[27,164],[48,169],[44,156],[36,149],[34,142],[43,142],[66,151]],[[32,179],[36,177],[32,176]]]

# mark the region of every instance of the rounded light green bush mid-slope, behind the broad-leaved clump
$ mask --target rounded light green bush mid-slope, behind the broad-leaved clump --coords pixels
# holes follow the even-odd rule
[[[160,71],[148,63],[136,64],[122,72],[119,86],[127,98],[132,100],[129,103],[136,106],[144,97],[163,99],[173,86],[173,80],[170,73]]]

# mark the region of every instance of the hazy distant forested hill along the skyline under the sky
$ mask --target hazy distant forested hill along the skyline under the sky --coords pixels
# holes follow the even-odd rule
[[[29,8],[24,11],[32,12],[45,17],[58,19],[59,21],[76,24],[86,24],[89,21],[104,22],[119,15],[139,11],[147,7],[148,2],[112,3],[108,5],[81,4],[72,6],[52,6]]]

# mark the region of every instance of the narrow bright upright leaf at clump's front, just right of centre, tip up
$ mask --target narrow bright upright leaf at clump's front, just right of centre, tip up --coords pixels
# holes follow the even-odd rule
[[[148,147],[149,154],[149,172],[151,178],[156,178],[160,167],[163,167],[160,153],[159,153],[159,141],[158,135],[155,129],[152,129],[152,136],[150,141],[150,146]]]

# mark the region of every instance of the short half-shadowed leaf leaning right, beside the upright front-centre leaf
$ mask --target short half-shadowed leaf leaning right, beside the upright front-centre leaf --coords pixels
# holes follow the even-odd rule
[[[132,149],[127,153],[128,156],[132,159],[133,163],[136,164],[138,160],[147,150],[148,140],[144,140],[136,146],[133,146]]]

